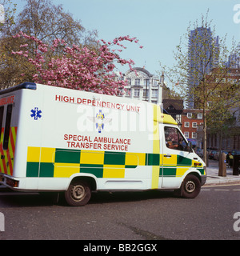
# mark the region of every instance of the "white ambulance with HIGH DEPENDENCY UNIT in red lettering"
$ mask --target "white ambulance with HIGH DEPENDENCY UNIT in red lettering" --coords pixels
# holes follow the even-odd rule
[[[150,102],[30,82],[0,91],[0,182],[62,192],[174,190],[195,198],[206,165],[177,123]]]

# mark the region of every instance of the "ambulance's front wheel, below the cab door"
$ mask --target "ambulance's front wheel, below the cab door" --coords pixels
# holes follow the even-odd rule
[[[201,190],[201,183],[193,174],[186,176],[182,182],[182,198],[196,198]]]

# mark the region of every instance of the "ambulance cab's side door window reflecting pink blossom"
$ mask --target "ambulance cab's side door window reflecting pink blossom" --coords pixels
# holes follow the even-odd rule
[[[166,146],[172,150],[188,150],[186,140],[177,128],[164,127]]]

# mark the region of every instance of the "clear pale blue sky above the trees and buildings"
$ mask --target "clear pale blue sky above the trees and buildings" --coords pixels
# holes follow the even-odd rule
[[[1,1],[0,1],[1,2]],[[18,11],[24,0],[17,3]],[[161,74],[163,65],[174,63],[173,50],[186,34],[190,22],[201,22],[209,10],[215,35],[227,34],[240,42],[240,0],[52,0],[82,21],[86,30],[98,30],[98,38],[107,42],[124,35],[136,37],[139,45],[127,43],[122,58],[130,58],[135,66],[145,67],[151,74]],[[128,66],[122,67],[123,73]]]

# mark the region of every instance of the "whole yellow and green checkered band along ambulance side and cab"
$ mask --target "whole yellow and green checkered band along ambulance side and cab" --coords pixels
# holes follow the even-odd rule
[[[34,147],[27,150],[26,177],[69,178],[72,174],[94,174],[97,178],[125,178],[127,168],[154,166],[159,176],[182,176],[194,161],[172,155],[162,167],[162,154],[66,150]],[[198,167],[204,174],[202,167]]]

